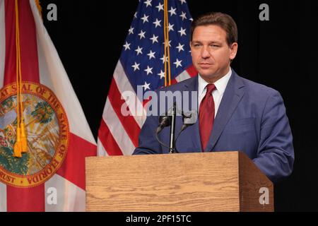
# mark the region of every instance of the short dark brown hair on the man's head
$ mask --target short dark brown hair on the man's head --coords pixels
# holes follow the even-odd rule
[[[211,12],[196,18],[191,25],[191,41],[194,29],[198,26],[218,25],[226,32],[226,42],[230,46],[233,42],[237,42],[237,25],[233,18],[225,13]]]

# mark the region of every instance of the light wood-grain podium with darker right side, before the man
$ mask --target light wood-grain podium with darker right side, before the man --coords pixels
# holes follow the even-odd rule
[[[273,184],[241,152],[87,157],[86,210],[273,211]]]

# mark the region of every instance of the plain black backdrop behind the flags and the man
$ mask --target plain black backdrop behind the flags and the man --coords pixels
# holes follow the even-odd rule
[[[57,21],[47,5],[57,5]],[[259,5],[269,5],[269,21]],[[43,19],[95,138],[112,73],[138,5],[127,1],[41,0]],[[239,30],[232,67],[241,76],[278,90],[293,131],[293,174],[275,186],[277,211],[318,210],[318,1],[188,0],[195,18],[230,14]],[[81,123],[80,121],[78,123]]]

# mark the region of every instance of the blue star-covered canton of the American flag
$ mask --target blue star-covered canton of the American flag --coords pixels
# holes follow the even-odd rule
[[[192,65],[189,48],[192,17],[185,0],[168,0],[171,79]],[[139,1],[120,61],[135,92],[156,90],[165,84],[163,0]],[[166,57],[167,60],[167,57]]]

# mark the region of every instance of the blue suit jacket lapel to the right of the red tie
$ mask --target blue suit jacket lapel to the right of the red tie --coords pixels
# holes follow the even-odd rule
[[[216,119],[214,119],[213,131],[209,138],[208,145],[206,146],[206,151],[213,150],[225,125],[228,123],[230,117],[232,117],[233,112],[244,94],[245,88],[242,79],[237,76],[237,73],[235,73],[234,70],[232,70],[231,78],[228,81],[220,106],[218,107]]]

